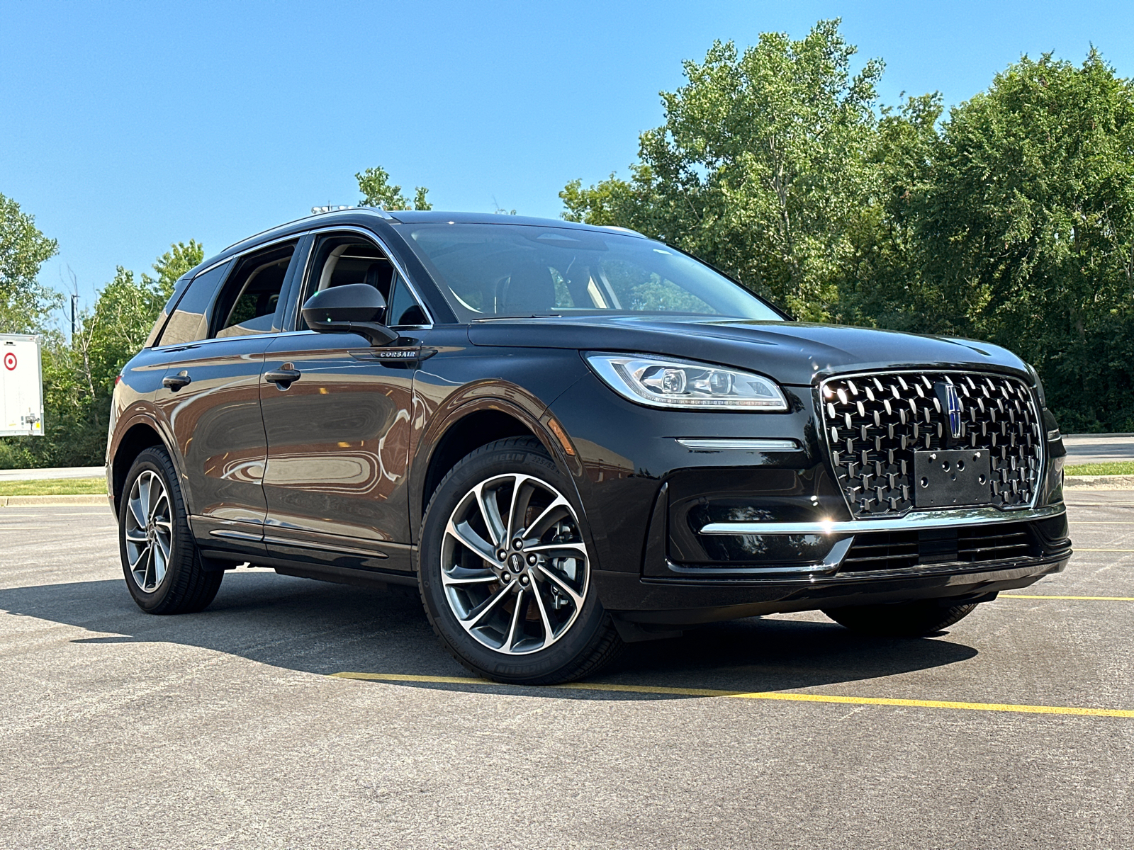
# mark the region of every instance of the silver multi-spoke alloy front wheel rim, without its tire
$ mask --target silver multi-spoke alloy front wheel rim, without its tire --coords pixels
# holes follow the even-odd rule
[[[558,490],[531,475],[500,475],[469,490],[450,515],[441,581],[474,639],[526,655],[578,619],[590,560],[578,518]]]

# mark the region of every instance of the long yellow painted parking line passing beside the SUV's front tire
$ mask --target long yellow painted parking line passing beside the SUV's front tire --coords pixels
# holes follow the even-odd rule
[[[423,685],[475,685],[498,687],[498,682],[457,675],[412,675],[406,673],[332,673],[336,679],[363,681],[416,682]],[[534,689],[534,688],[533,688]],[[712,690],[709,688],[670,688],[660,685],[607,685],[601,682],[572,682],[550,685],[539,690],[598,690],[611,694],[652,694],[680,697],[731,697],[734,699],[770,699],[787,703],[838,703],[840,705],[891,705],[909,708],[954,708],[974,712],[1014,712],[1023,714],[1074,714],[1090,717],[1131,717],[1134,711],[1125,708],[1085,708],[1058,705],[1013,705],[1009,703],[951,703],[940,699],[890,699],[885,697],[838,697],[827,694],[785,694],[779,691]]]

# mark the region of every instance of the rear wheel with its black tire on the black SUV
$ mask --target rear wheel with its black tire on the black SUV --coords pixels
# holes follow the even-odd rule
[[[130,596],[147,614],[205,609],[225,578],[197,551],[177,473],[164,449],[134,460],[118,507],[118,550]]]

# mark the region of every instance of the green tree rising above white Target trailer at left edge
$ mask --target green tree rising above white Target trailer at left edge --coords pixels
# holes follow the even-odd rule
[[[0,333],[36,333],[60,304],[39,283],[40,266],[58,250],[12,198],[0,195]]]

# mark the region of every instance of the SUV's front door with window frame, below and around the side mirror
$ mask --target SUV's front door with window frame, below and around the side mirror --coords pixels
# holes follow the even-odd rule
[[[305,330],[297,317],[297,330],[271,343],[260,384],[268,434],[264,539],[271,553],[291,560],[409,570],[415,332],[428,318],[375,241],[327,233],[311,257],[298,305],[319,289],[365,282],[413,326],[405,323],[403,339],[375,349],[357,334]]]

